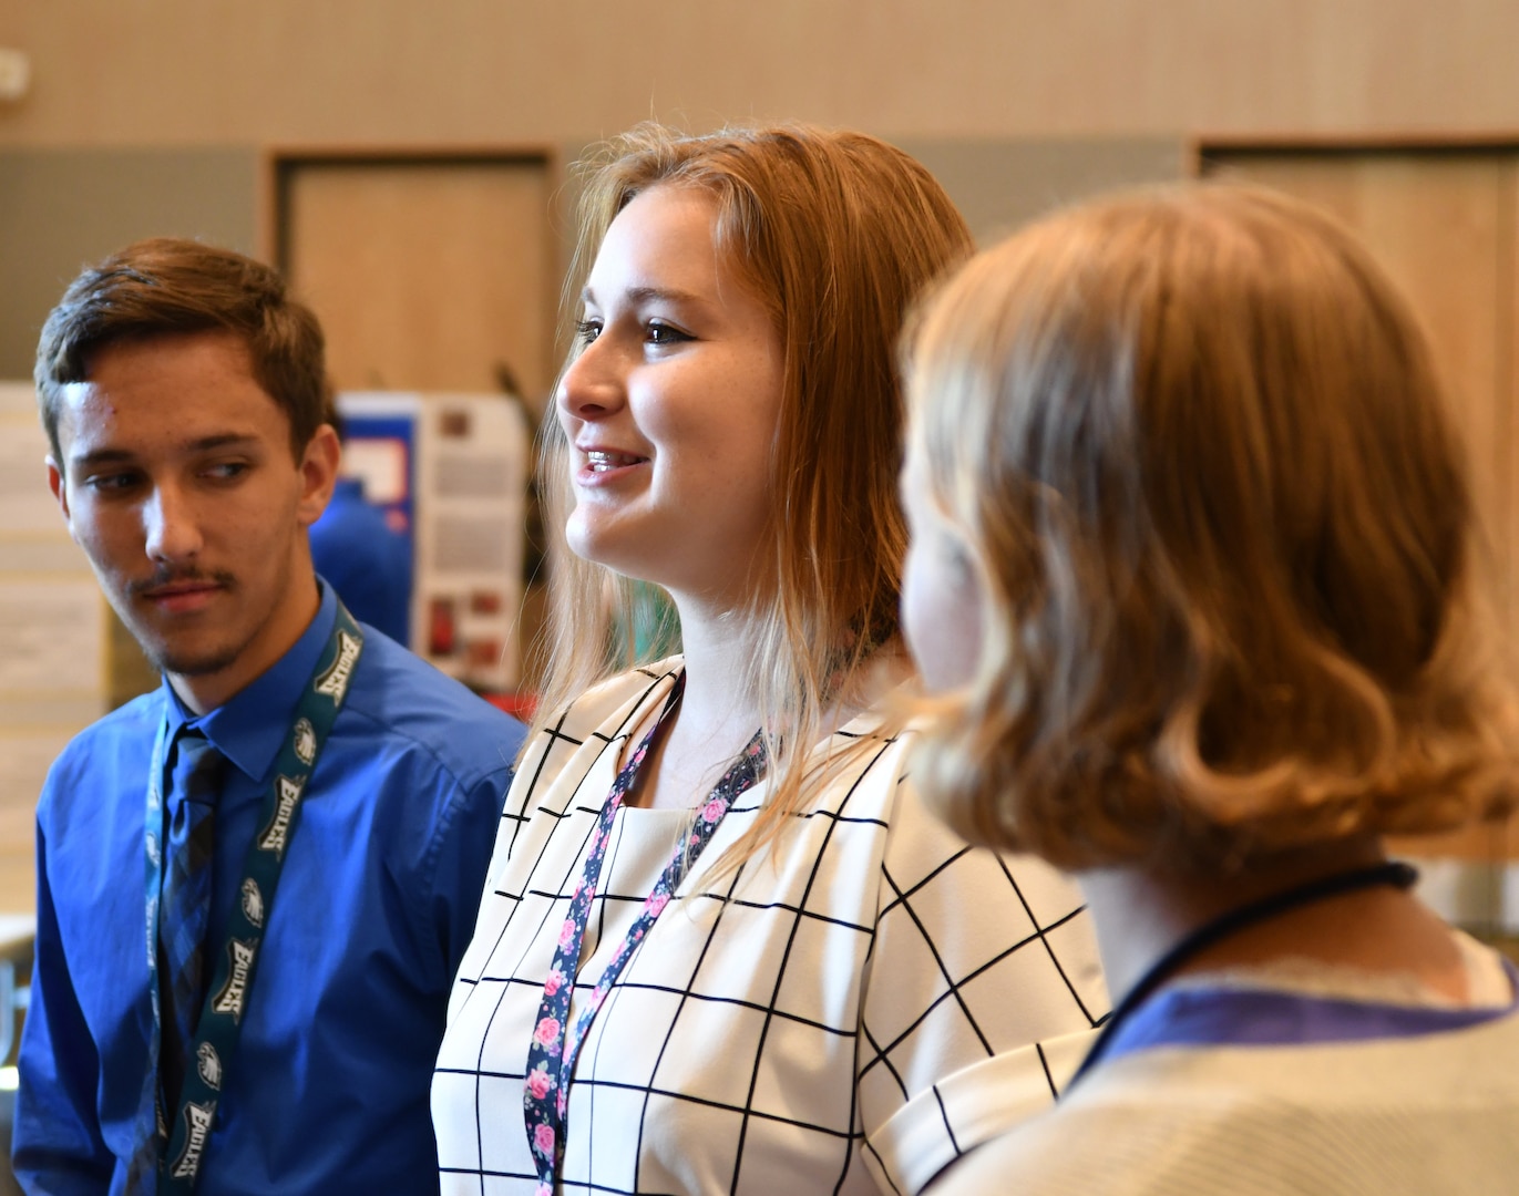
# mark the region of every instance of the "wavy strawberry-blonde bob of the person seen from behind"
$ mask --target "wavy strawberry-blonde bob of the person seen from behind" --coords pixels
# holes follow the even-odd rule
[[[963,833],[1218,873],[1507,804],[1458,436],[1344,229],[1240,185],[1075,208],[946,284],[904,364],[983,586],[916,773]]]

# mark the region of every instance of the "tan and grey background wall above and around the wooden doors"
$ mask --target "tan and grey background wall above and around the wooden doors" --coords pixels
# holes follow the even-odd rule
[[[1194,134],[1519,127],[1511,0],[0,0],[0,47],[32,73],[0,103],[0,376],[131,237],[273,257],[278,149],[516,149],[557,193],[641,118],[802,118],[904,143],[990,237],[1180,173]]]

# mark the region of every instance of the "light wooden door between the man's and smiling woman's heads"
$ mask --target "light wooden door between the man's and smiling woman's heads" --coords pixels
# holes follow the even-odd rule
[[[545,155],[276,156],[276,260],[327,331],[339,390],[553,376],[557,241]]]

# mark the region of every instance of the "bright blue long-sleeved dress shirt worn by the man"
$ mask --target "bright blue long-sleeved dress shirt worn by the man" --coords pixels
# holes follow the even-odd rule
[[[316,619],[197,721],[231,760],[217,801],[220,943],[275,757],[331,634]],[[38,804],[38,929],[12,1157],[30,1193],[120,1193],[152,1008],[144,810],[164,685],[81,733]],[[366,628],[286,853],[202,1196],[437,1191],[428,1085],[523,729]]]

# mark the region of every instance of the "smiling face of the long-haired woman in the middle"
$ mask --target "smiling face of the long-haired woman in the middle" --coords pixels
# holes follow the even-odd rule
[[[741,610],[769,566],[784,352],[718,257],[715,226],[702,190],[629,200],[586,281],[557,404],[570,548],[720,615]]]

